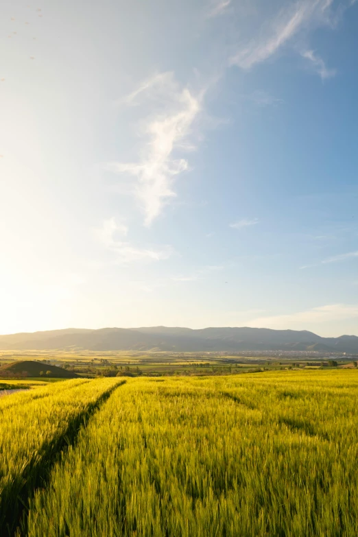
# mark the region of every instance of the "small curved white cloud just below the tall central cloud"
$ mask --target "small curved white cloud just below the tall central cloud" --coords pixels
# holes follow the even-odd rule
[[[135,261],[160,261],[168,259],[174,250],[171,246],[165,248],[138,248],[128,241],[123,241],[128,228],[124,224],[117,224],[114,217],[106,220],[102,228],[96,230],[96,235],[102,244],[116,254],[118,263],[132,263]]]

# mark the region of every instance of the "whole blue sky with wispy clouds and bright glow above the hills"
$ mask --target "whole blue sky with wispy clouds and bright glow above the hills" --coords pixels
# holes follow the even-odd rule
[[[5,0],[0,333],[358,335],[357,27],[348,0]]]

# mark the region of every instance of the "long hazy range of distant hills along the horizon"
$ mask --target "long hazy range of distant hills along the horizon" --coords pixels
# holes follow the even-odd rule
[[[256,328],[186,328],[99,330],[66,329],[0,335],[0,350],[137,350],[240,352],[243,350],[318,350],[358,354],[358,337],[320,337],[313,332]],[[44,368],[47,366],[43,366]]]

